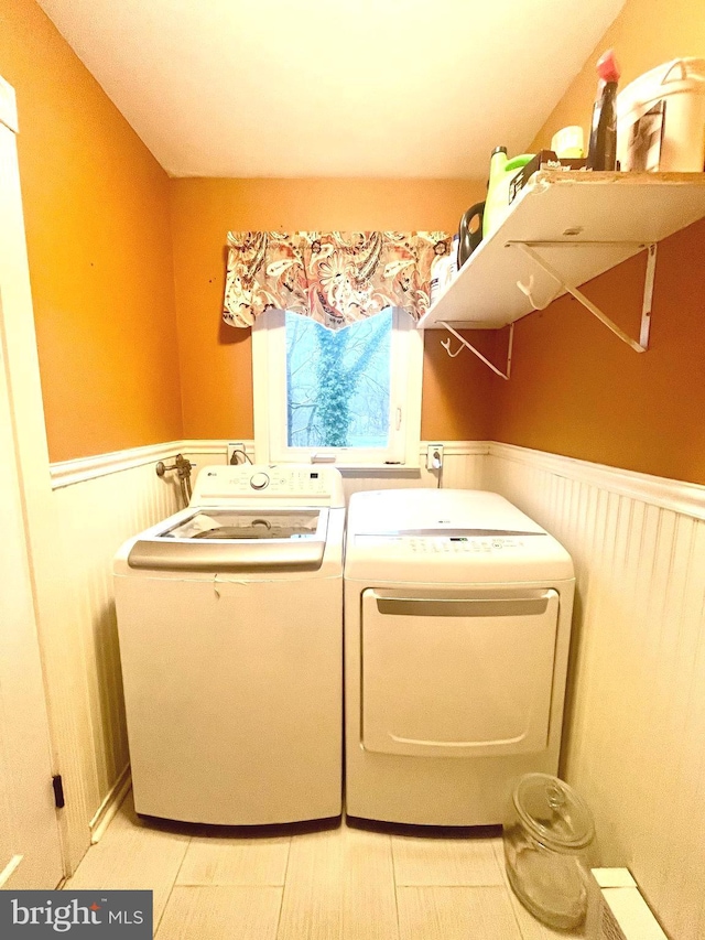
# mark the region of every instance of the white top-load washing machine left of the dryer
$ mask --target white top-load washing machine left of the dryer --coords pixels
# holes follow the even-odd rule
[[[213,466],[115,560],[139,813],[248,825],[341,812],[340,474]]]

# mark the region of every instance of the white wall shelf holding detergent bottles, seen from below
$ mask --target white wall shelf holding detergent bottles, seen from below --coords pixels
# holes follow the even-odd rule
[[[578,287],[703,217],[705,173],[536,173],[417,326],[497,329],[564,294],[522,245]]]

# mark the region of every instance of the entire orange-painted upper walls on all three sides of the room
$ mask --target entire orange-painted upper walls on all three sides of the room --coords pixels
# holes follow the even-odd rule
[[[594,62],[608,45],[622,85],[675,55],[705,56],[702,11],[701,0],[628,0],[532,149],[566,123],[587,129]],[[249,331],[220,321],[229,228],[453,231],[485,191],[484,181],[170,181],[33,0],[0,0],[0,72],[18,91],[53,461],[182,434],[252,435]],[[442,333],[426,333],[422,435],[495,437],[705,483],[704,226],[659,249],[643,356],[566,299],[518,324],[510,382],[469,354],[448,359]],[[587,291],[634,335],[641,268],[629,262]]]

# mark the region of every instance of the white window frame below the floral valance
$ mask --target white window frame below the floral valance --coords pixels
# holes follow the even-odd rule
[[[381,449],[290,447],[286,443],[285,312],[268,310],[252,325],[254,458],[258,463],[332,463],[338,468],[419,466],[423,333],[392,307],[390,442]],[[381,451],[381,453],[380,453]]]

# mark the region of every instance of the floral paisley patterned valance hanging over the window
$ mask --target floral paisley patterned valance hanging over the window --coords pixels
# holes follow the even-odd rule
[[[429,307],[445,231],[230,231],[224,320],[251,326],[269,307],[340,329],[389,306]]]

